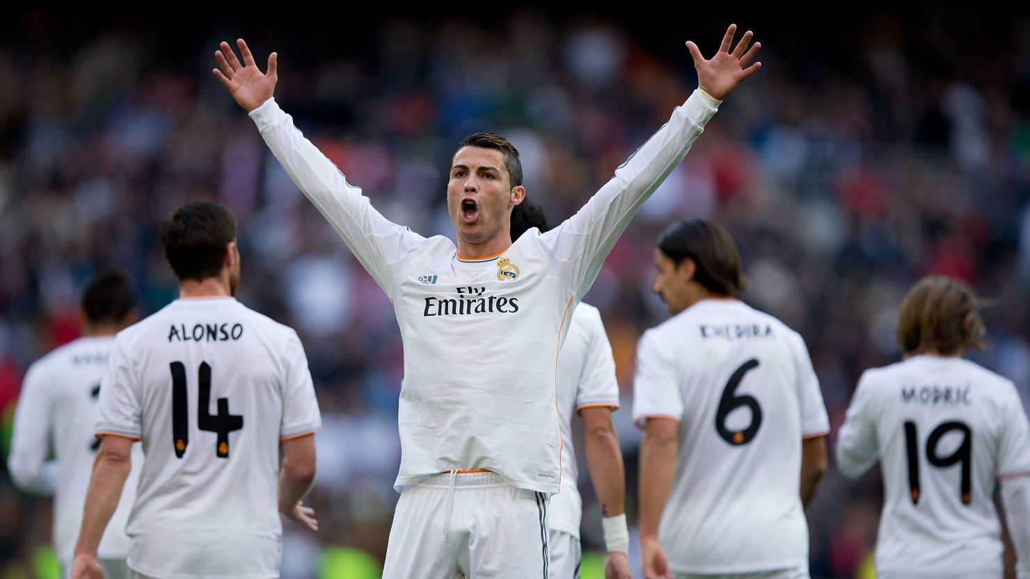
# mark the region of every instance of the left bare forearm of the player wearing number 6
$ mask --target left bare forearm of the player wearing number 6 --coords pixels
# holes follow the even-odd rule
[[[641,441],[640,535],[657,540],[658,523],[665,508],[679,453],[680,424],[671,419],[648,419]]]

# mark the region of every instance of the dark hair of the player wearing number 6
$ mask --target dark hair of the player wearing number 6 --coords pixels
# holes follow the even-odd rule
[[[658,249],[677,266],[693,260],[694,281],[714,294],[737,297],[748,287],[733,238],[714,221],[681,219],[658,236]]]

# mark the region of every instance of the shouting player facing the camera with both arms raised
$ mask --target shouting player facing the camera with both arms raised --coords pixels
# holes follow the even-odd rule
[[[716,107],[758,63],[730,27],[699,89],[574,217],[512,243],[525,189],[518,151],[477,134],[454,154],[447,207],[457,245],[386,220],[294,126],[242,39],[213,72],[283,168],[393,303],[405,350],[402,492],[383,576],[546,577],[548,497],[560,486],[555,372],[571,314],[637,209],[683,158]]]

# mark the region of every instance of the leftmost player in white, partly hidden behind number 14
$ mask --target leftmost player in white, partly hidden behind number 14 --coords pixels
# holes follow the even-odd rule
[[[7,470],[22,490],[54,495],[54,547],[62,574],[71,574],[72,548],[82,522],[82,505],[99,443],[94,426],[100,415],[100,378],[114,334],[133,321],[132,287],[125,273],[97,274],[82,293],[82,337],[58,348],[29,366],[14,410]],[[54,448],[56,460],[48,462]],[[98,547],[104,575],[129,577],[126,520],[136,497],[143,451],[133,445],[129,491],[122,496]]]

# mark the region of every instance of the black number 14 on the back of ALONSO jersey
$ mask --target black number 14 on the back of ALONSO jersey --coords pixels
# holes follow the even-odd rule
[[[190,411],[186,399],[186,367],[182,362],[169,364],[172,371],[172,444],[179,459],[190,445]],[[211,366],[201,362],[197,371],[199,379],[197,426],[217,434],[214,454],[219,459],[229,458],[229,433],[243,428],[243,417],[229,413],[229,398],[218,398],[218,413],[211,414]]]

